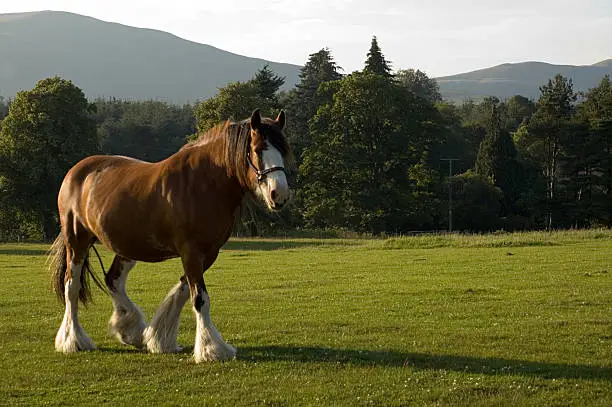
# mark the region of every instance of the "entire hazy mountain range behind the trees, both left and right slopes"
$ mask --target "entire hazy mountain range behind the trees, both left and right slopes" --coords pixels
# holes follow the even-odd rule
[[[0,95],[9,98],[59,75],[90,99],[194,102],[229,82],[250,79],[266,64],[286,78],[283,89],[298,82],[298,65],[249,58],[162,31],[58,11],[0,14]],[[537,99],[539,87],[557,73],[571,78],[574,90],[587,90],[612,75],[612,59],[589,66],[503,64],[436,79],[447,100],[516,94]]]

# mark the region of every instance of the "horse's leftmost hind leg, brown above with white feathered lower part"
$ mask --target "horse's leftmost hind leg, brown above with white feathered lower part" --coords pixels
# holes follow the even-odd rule
[[[70,225],[70,223],[69,223]],[[71,353],[80,350],[93,350],[96,345],[87,336],[79,323],[78,301],[82,291],[81,274],[87,262],[87,253],[91,235],[80,225],[72,231],[64,224],[64,244],[66,245],[66,273],[64,275],[64,294],[66,311],[64,319],[55,336],[55,349],[58,352]]]

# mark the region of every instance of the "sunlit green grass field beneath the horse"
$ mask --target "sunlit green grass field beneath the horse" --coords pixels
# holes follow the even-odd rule
[[[0,404],[612,405],[611,231],[233,240],[206,281],[238,356],[199,365],[191,307],[184,352],[149,355],[109,337],[100,291],[98,350],[56,353],[47,248],[0,245]],[[147,316],[179,264],[132,272]]]

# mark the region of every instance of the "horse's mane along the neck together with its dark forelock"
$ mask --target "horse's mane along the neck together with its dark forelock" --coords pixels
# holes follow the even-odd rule
[[[287,142],[287,137],[283,134],[280,127],[276,125],[276,122],[269,118],[263,118],[259,127],[259,133],[263,136],[262,142],[268,142],[271,146],[276,148],[285,161],[285,166],[291,168],[294,165],[294,158],[291,152],[291,147]],[[251,127],[249,119],[232,122],[226,121],[213,127],[212,129],[202,132],[198,138],[185,144],[181,150],[204,146],[205,144],[222,139],[224,160],[225,165],[229,169],[232,169],[233,173],[238,177],[241,184],[248,184],[248,161],[247,154],[250,150],[251,142]]]

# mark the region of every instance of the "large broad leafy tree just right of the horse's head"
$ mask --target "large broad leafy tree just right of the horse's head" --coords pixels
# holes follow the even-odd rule
[[[431,225],[433,176],[423,162],[435,109],[381,75],[354,73],[338,85],[311,122],[300,168],[306,225],[373,233]]]

